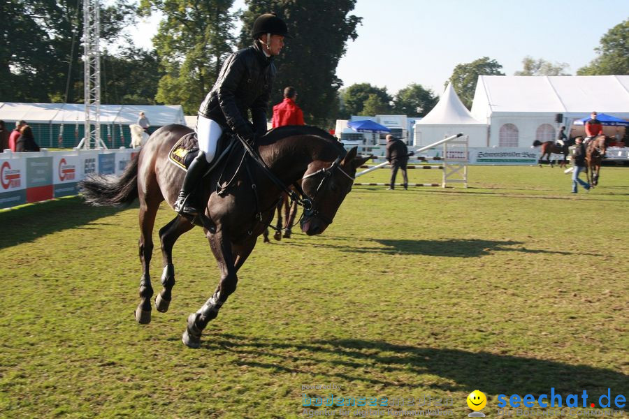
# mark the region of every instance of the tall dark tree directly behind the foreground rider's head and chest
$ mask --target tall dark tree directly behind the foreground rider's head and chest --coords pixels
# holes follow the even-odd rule
[[[270,107],[282,101],[284,87],[293,86],[305,121],[331,125],[342,86],[336,67],[347,41],[358,36],[356,26],[361,22],[360,17],[349,15],[356,0],[247,0],[246,4],[240,47],[251,45],[253,22],[268,11],[275,11],[287,22],[289,34],[294,37],[285,41],[281,54],[275,57],[277,76]]]

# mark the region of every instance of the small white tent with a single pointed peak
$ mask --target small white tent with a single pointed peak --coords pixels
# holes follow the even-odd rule
[[[470,147],[487,145],[487,124],[472,117],[456,95],[452,84],[448,83],[435,108],[426,117],[415,122],[414,145],[429,145],[457,133],[469,135]]]

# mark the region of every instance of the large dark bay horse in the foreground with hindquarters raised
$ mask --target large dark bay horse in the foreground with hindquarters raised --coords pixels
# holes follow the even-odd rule
[[[151,320],[153,288],[149,265],[157,209],[163,200],[173,206],[185,175],[181,168],[168,161],[168,153],[182,135],[191,131],[182,125],[159,128],[120,177],[95,175],[80,185],[85,200],[92,205],[124,205],[136,198],[140,200],[142,277],[140,303],[135,311],[138,323],[146,324]],[[273,183],[252,159],[247,159],[250,165],[243,168],[240,163],[246,152],[240,143],[235,147],[235,155],[210,172],[199,191],[203,202],[207,203],[205,215],[216,225],[215,233],[207,228],[203,230],[217,260],[220,280],[207,302],[187,318],[182,341],[191,348],[201,345],[201,332],[217,317],[227,297],[236,291],[237,272],[254,249],[256,237],[273,219],[282,193],[280,186]],[[356,168],[370,158],[357,157],[356,147],[346,152],[338,140],[313,126],[275,128],[259,138],[256,149],[280,182],[284,185],[296,182],[301,186],[304,198],[310,200],[311,205],[301,220],[301,229],[307,235],[321,234],[332,223],[352,189]],[[231,186],[217,190],[219,182],[225,187],[223,179],[231,179]],[[164,270],[161,275],[163,288],[155,298],[157,311],[167,311],[171,302],[175,285],[172,252],[175,241],[193,227],[187,218],[175,214],[172,221],[159,230]]]

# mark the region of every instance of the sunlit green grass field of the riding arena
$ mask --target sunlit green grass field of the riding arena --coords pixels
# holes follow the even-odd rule
[[[463,418],[478,389],[496,418],[501,394],[629,397],[629,170],[603,168],[577,195],[558,168],[469,177],[356,186],[324,235],[260,238],[196,351],[185,319],[218,280],[200,229],[175,246],[170,311],[140,326],[136,207],[0,212],[0,417],[301,418],[304,395],[333,393],[405,399],[393,410],[442,399]],[[162,207],[157,226],[172,216]]]

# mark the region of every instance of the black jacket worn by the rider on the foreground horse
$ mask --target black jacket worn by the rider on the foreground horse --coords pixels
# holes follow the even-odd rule
[[[198,109],[231,131],[249,137],[266,133],[266,107],[275,79],[273,57],[266,57],[260,41],[233,52],[224,62],[214,87]],[[251,110],[253,130],[248,122]]]

